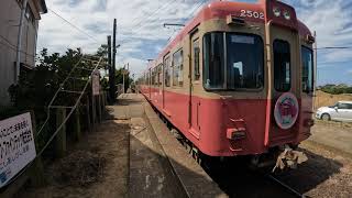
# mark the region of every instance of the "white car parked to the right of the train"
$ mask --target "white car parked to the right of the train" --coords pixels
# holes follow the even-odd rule
[[[339,101],[334,106],[321,107],[316,113],[317,119],[352,122],[352,101]]]

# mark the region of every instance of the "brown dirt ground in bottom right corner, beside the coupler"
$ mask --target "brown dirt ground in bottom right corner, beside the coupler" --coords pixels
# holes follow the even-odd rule
[[[279,174],[282,180],[309,197],[351,197],[350,155],[310,141],[304,142],[300,148],[308,155],[308,162],[298,169]]]

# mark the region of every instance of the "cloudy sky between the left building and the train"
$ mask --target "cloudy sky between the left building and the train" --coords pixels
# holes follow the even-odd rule
[[[66,48],[81,47],[92,53],[100,44],[107,43],[112,34],[112,20],[118,20],[118,66],[130,63],[133,73],[145,68],[146,59],[156,56],[162,44],[173,34],[164,29],[165,22],[180,22],[198,7],[197,0],[52,0],[47,7],[85,30],[98,42],[75,30],[54,13],[42,16],[38,47],[47,47],[51,53]],[[153,45],[153,46],[151,46]],[[147,50],[146,50],[147,48]],[[145,57],[144,57],[145,56]],[[152,57],[153,56],[153,57]]]

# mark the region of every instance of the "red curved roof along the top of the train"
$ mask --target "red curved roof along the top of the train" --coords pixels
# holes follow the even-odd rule
[[[235,1],[212,1],[202,7],[202,9],[180,30],[180,32],[169,42],[166,47],[158,54],[157,58],[148,64],[147,68],[157,65],[157,61],[165,56],[179,41],[194,30],[198,24],[211,19],[226,19],[229,14],[240,14],[241,10],[252,10],[257,12],[265,12],[266,3],[284,6],[293,12],[293,21],[300,35],[311,35],[311,32],[301,21],[296,18],[296,11],[293,7],[276,0],[258,0],[255,3],[235,2]],[[270,12],[272,13],[272,12]],[[245,19],[249,22],[265,23],[266,19]]]

